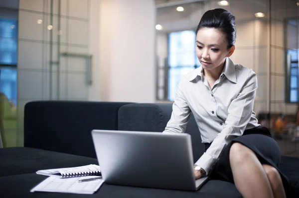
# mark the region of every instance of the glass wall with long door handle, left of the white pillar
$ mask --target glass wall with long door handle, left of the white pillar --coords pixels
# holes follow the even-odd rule
[[[0,4],[0,146],[4,147],[23,145],[26,103],[88,100],[91,84],[90,0],[13,2]]]

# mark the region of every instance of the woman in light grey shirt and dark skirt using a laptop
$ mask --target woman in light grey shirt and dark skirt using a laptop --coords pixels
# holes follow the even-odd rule
[[[244,198],[286,198],[280,148],[253,112],[256,73],[229,58],[235,39],[230,12],[219,8],[203,14],[196,30],[201,66],[181,78],[164,132],[185,132],[192,112],[205,144],[194,165],[196,179],[209,175],[235,183]]]

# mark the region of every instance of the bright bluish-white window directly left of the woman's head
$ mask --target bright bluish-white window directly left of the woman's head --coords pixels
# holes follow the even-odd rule
[[[200,66],[195,53],[195,32],[172,32],[168,35],[168,100],[173,101],[182,75]]]

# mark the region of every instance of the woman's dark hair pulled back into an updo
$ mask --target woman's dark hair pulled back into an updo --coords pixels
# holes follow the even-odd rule
[[[236,41],[235,16],[229,11],[217,8],[206,11],[200,19],[196,29],[196,35],[200,28],[210,27],[222,31],[227,40],[227,48],[231,48]]]

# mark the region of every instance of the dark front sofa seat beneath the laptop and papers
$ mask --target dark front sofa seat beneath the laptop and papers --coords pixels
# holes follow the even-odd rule
[[[1,198],[242,198],[235,185],[212,180],[199,191],[174,191],[104,184],[93,195],[30,193],[46,176],[35,173],[0,177]]]

